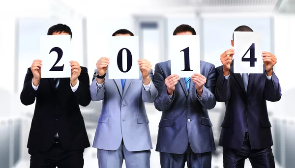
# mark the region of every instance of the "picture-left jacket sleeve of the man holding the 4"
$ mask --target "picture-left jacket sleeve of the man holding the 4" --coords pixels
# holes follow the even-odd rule
[[[217,82],[215,86],[215,97],[218,102],[226,102],[231,97],[231,88],[230,88],[230,81],[231,76],[230,74],[228,79],[225,79],[223,72],[219,71],[218,68],[215,69]]]

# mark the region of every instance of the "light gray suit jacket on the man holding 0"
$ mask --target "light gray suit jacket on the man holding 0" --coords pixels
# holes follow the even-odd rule
[[[96,71],[90,85],[92,101],[103,100],[101,114],[98,118],[93,147],[103,150],[117,150],[122,142],[128,151],[152,149],[145,103],[153,103],[158,91],[149,73],[151,85],[149,91],[144,89],[142,75],[140,79],[127,79],[124,90],[121,80],[110,80],[108,70],[102,88],[96,84]]]

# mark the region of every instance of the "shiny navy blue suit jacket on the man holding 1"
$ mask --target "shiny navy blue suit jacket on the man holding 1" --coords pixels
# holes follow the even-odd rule
[[[170,99],[165,85],[165,79],[171,75],[170,60],[155,65],[153,83],[159,92],[155,108],[162,111],[156,151],[182,154],[188,143],[195,153],[215,150],[212,123],[207,112],[216,105],[215,66],[201,61],[201,74],[207,78],[201,99],[197,96],[194,82],[190,81],[187,91],[183,78],[175,85]]]

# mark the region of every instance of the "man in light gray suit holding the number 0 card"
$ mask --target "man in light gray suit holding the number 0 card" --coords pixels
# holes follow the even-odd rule
[[[113,36],[133,33],[119,29]],[[115,63],[116,60],[111,60]],[[151,138],[145,102],[153,103],[158,91],[152,83],[150,62],[139,59],[140,79],[110,80],[107,67],[110,59],[100,58],[90,95],[92,101],[103,100],[93,147],[97,148],[99,168],[150,168]]]

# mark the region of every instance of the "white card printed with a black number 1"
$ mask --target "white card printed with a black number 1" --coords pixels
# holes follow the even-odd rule
[[[173,35],[170,44],[172,75],[190,78],[194,73],[200,73],[199,35]]]

